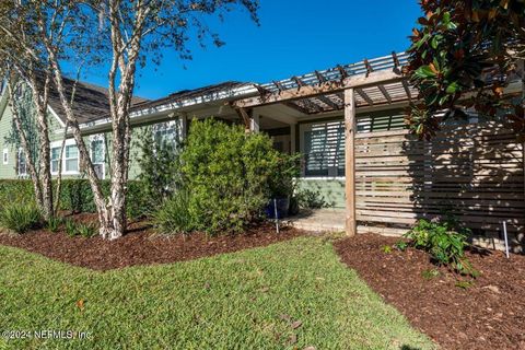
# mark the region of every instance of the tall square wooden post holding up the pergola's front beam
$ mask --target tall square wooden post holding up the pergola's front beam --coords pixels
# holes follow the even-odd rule
[[[346,232],[349,236],[357,233],[355,220],[355,96],[353,89],[345,90],[345,183],[346,183]]]

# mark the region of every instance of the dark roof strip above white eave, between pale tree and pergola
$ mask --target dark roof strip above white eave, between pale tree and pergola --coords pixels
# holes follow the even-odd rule
[[[166,97],[162,97],[162,98],[145,102],[145,103],[139,103],[135,105],[132,109],[148,109],[148,108],[155,108],[155,107],[168,105],[168,104],[179,104],[183,101],[188,101],[194,98],[200,100],[203,96],[208,96],[209,100],[221,100],[224,97],[223,93],[225,91],[234,90],[236,88],[242,88],[246,85],[253,86],[253,84],[243,83],[238,81],[226,81],[219,84],[208,85],[208,86],[198,88],[194,90],[182,90],[171,95],[167,95]]]

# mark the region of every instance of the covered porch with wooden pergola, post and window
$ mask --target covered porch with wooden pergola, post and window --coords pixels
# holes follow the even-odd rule
[[[406,54],[393,52],[292,77],[232,104],[246,129],[267,132],[276,149],[304,154],[302,186],[332,205],[292,219],[296,224],[357,233],[355,140],[404,129],[402,108],[417,95],[400,73],[406,61]]]

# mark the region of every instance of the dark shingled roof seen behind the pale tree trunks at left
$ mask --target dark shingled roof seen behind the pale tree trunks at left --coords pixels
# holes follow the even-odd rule
[[[66,96],[70,101],[75,81],[63,78]],[[109,114],[109,92],[107,89],[79,81],[73,100],[73,114],[80,124],[85,124],[107,117]],[[132,105],[144,103],[148,100],[136,97],[132,98]],[[49,106],[55,110],[60,120],[66,124],[66,113],[63,110],[58,91],[54,84],[49,88]]]

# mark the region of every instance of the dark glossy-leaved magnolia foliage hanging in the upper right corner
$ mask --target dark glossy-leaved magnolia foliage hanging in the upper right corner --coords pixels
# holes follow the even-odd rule
[[[411,106],[411,130],[430,139],[444,120],[475,108],[505,115],[523,140],[523,98],[503,91],[516,77],[524,79],[525,2],[423,0],[421,9],[405,67],[422,101]],[[435,117],[439,112],[444,117]]]

